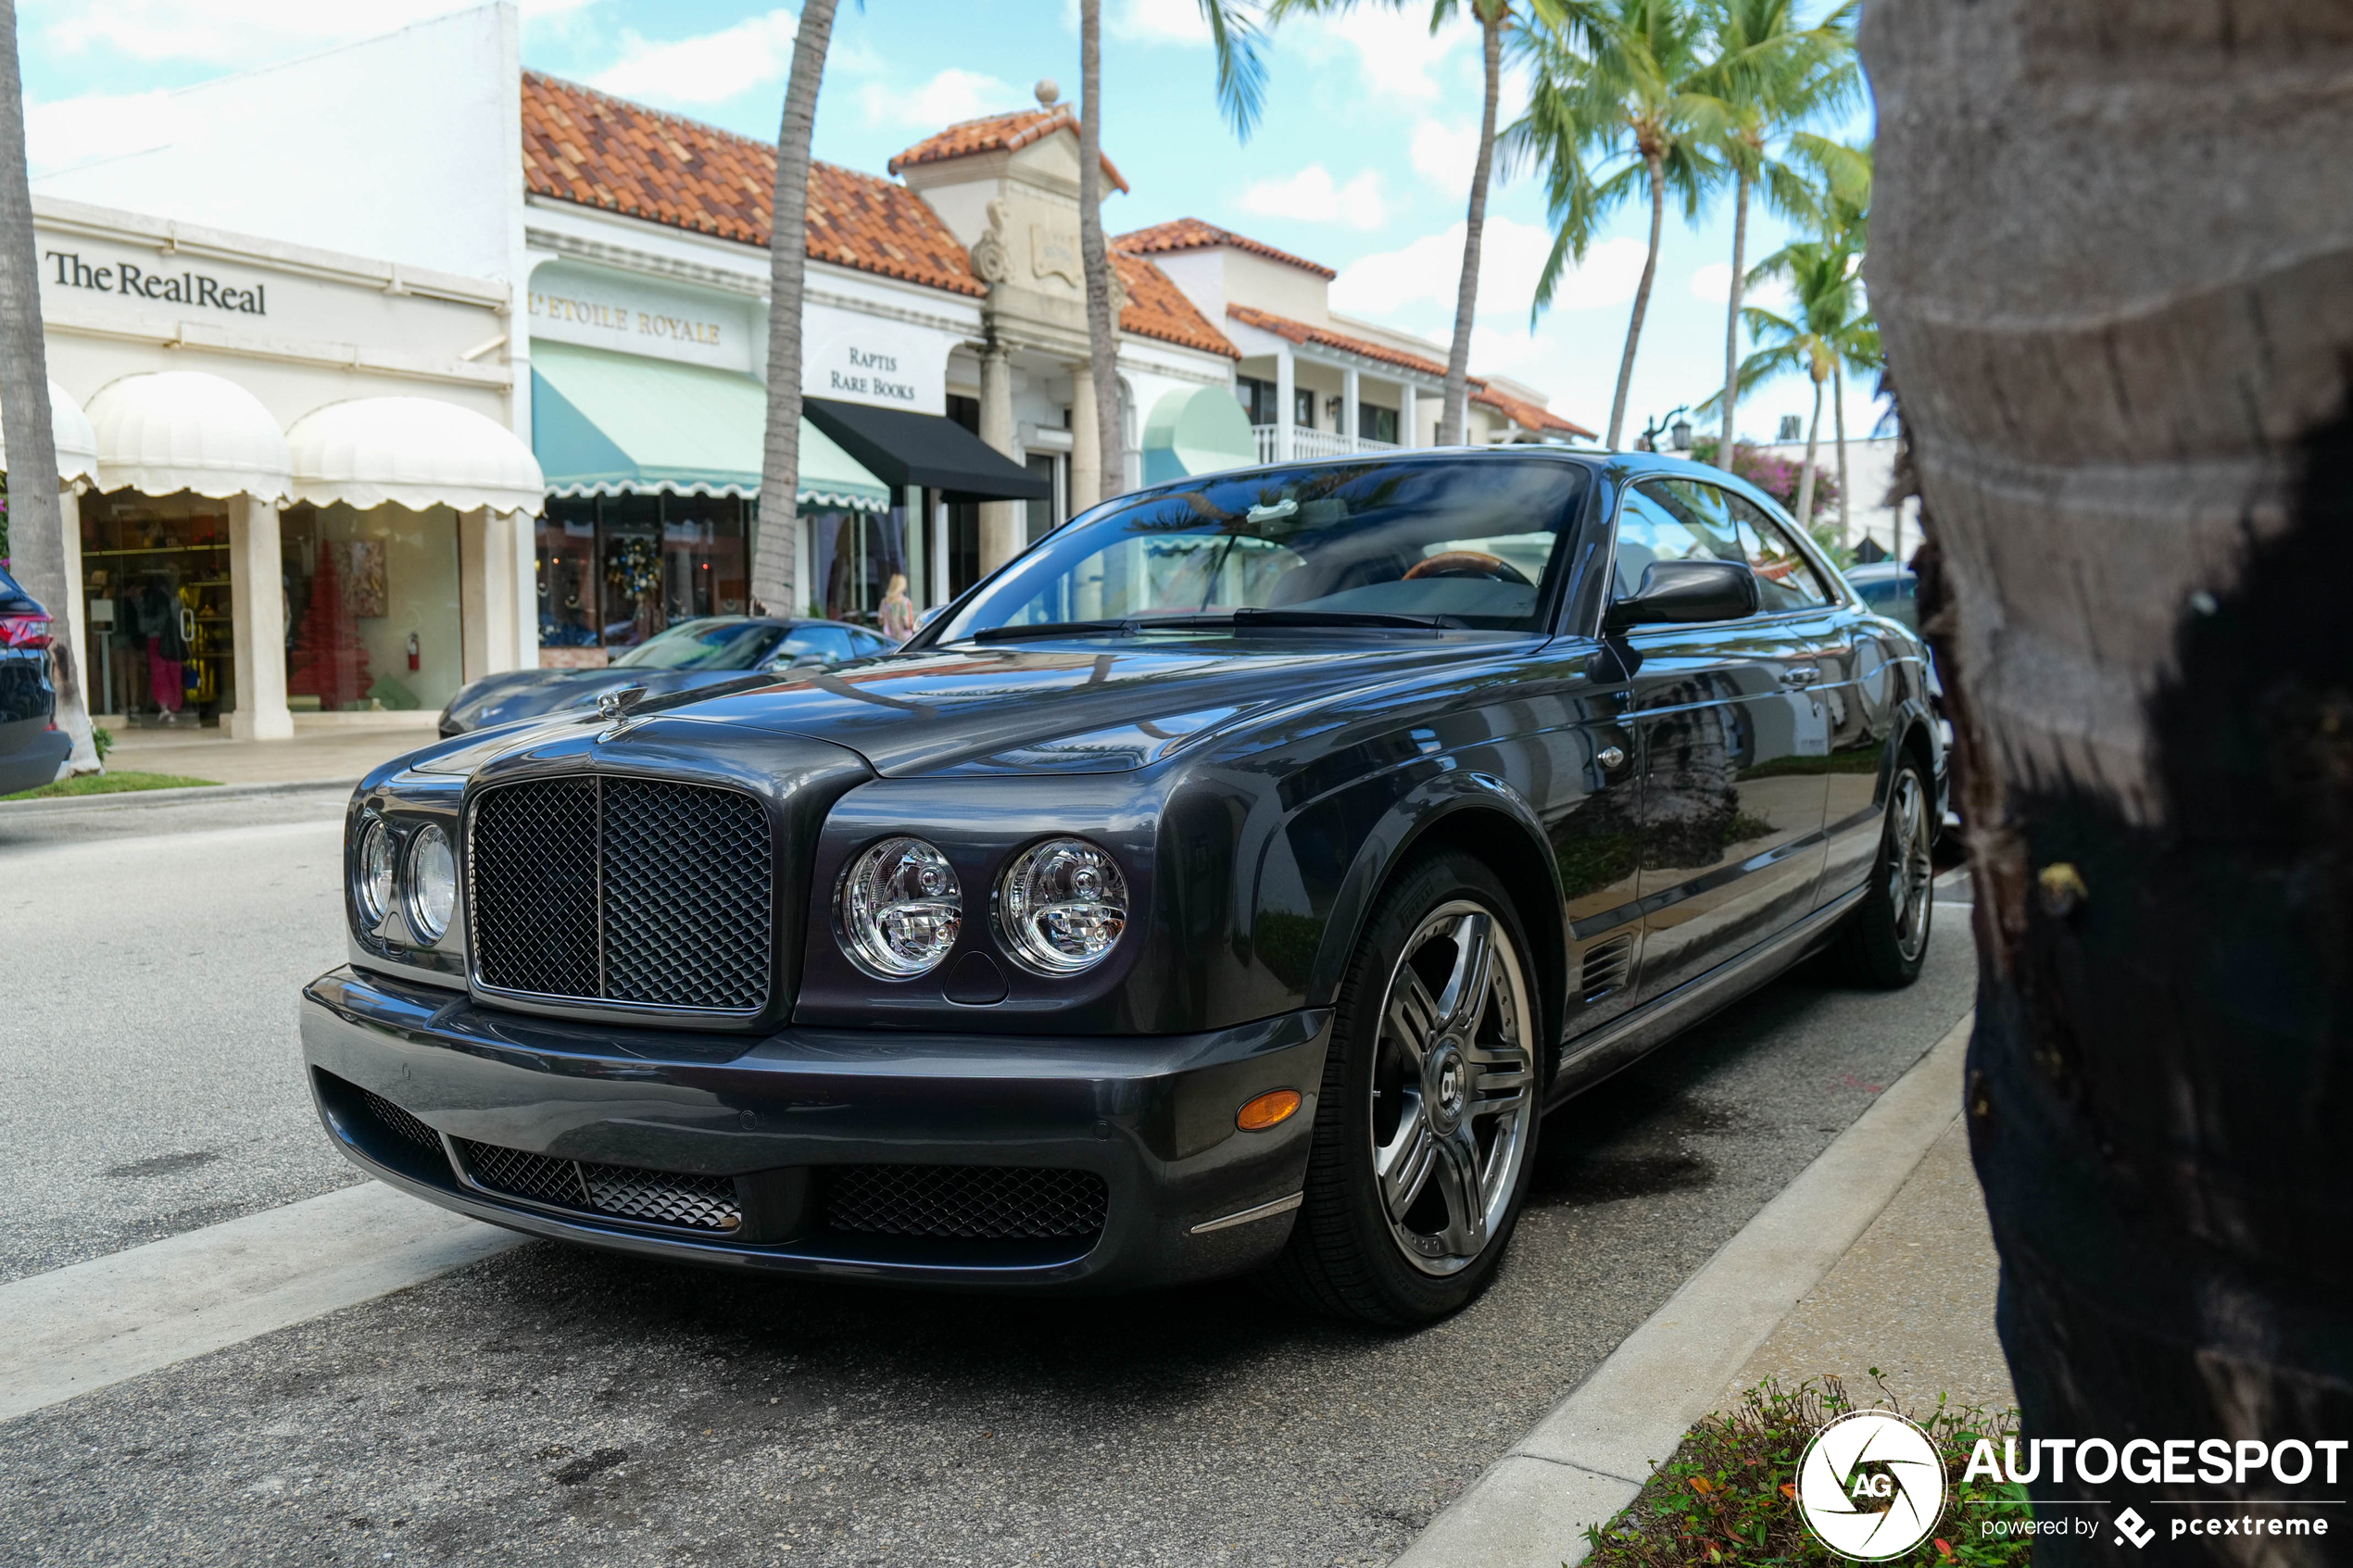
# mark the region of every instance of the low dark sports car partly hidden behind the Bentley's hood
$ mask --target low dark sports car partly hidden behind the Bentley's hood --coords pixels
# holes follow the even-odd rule
[[[607,691],[640,686],[675,696],[736,679],[748,670],[791,670],[887,654],[899,646],[847,621],[701,616],[656,632],[598,670],[506,670],[468,682],[442,708],[440,733],[536,719],[560,708],[593,708]]]

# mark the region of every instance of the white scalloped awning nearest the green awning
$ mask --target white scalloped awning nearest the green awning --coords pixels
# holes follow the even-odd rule
[[[449,505],[536,512],[539,458],[506,425],[438,397],[353,397],[287,430],[294,498],[313,505]]]

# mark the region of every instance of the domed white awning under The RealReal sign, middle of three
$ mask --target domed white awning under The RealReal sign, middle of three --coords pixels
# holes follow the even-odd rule
[[[101,489],[287,498],[287,437],[235,381],[193,369],[122,376],[89,400],[89,423]]]

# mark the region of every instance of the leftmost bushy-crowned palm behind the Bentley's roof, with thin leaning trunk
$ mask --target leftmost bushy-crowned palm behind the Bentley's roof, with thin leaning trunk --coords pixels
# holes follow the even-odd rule
[[[1534,310],[1553,301],[1562,268],[1584,261],[1602,219],[1635,195],[1649,197],[1649,254],[1609,400],[1612,449],[1626,430],[1626,390],[1659,275],[1666,197],[1673,190],[1689,221],[1722,176],[1711,150],[1722,143],[1725,122],[1718,101],[1701,92],[1711,66],[1706,45],[1708,28],[1687,0],[1579,5],[1562,26],[1534,35],[1534,92],[1506,139],[1513,158],[1541,165],[1558,228]]]

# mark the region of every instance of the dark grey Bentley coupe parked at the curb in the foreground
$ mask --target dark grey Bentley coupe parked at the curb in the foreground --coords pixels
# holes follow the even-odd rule
[[[899,654],[607,708],[360,785],[301,1034],[360,1168],[647,1258],[1421,1324],[1544,1110],[1929,940],[1918,637],[1675,458],[1160,484]]]

